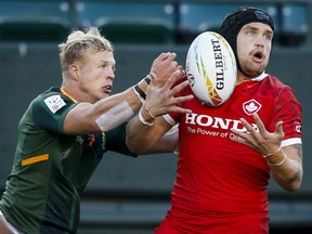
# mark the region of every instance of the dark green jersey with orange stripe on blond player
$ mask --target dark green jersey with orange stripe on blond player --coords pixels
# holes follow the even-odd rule
[[[77,105],[60,88],[38,95],[18,123],[12,172],[0,209],[25,234],[76,233],[80,194],[106,151],[131,154],[126,123],[106,133],[65,134],[67,113]]]

